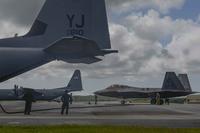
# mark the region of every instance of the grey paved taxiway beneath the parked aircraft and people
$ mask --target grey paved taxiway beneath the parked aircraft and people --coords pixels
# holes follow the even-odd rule
[[[23,110],[23,102],[3,103],[8,111]],[[33,109],[59,108],[58,103],[40,102]],[[85,103],[71,106],[69,116],[61,116],[60,110],[23,114],[4,114],[0,112],[0,124],[17,125],[136,125],[155,127],[200,127],[200,105],[171,104],[170,106],[125,105],[100,103],[97,107]]]

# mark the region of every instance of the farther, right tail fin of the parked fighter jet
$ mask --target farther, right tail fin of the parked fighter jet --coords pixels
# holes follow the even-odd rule
[[[185,91],[192,92],[192,88],[190,86],[190,81],[187,74],[179,74],[178,75],[179,80],[181,81],[183,87],[185,88]]]

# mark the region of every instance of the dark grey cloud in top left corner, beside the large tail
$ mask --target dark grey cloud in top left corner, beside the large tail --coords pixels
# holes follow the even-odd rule
[[[44,0],[1,0],[0,20],[19,26],[30,26],[43,3]]]

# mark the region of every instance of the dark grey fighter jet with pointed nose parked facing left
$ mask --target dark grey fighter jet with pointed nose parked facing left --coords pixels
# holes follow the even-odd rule
[[[192,92],[191,89],[187,90],[186,88],[184,88],[184,86],[185,85],[182,84],[182,81],[179,80],[179,78],[176,76],[174,72],[167,72],[165,75],[162,88],[140,88],[140,87],[130,87],[124,85],[112,85],[104,90],[95,92],[95,94],[101,96],[126,99],[126,98],[153,98],[155,97],[156,93],[159,93],[161,98],[180,97],[196,93]]]

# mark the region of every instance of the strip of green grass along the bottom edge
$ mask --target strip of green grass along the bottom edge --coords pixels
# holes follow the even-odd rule
[[[1,133],[200,133],[200,129],[131,126],[0,126]]]

